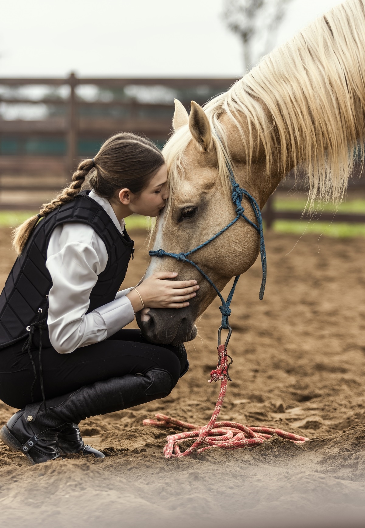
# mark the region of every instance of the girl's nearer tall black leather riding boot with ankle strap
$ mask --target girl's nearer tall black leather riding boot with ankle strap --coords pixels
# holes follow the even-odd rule
[[[46,462],[60,456],[57,435],[66,426],[97,414],[165,398],[174,386],[171,374],[161,369],[145,376],[127,374],[97,381],[47,400],[46,407],[43,402],[27,405],[0,430],[0,438],[11,449],[22,451],[33,464]]]

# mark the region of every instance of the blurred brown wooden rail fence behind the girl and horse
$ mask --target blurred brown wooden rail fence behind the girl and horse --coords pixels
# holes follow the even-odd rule
[[[203,105],[234,82],[235,79],[81,79],[73,73],[65,79],[0,78],[0,210],[39,208],[70,180],[78,161],[95,154],[98,145],[116,131],[145,134],[162,145],[171,131],[174,96],[189,109],[191,99]],[[43,95],[30,95],[29,89],[36,87],[43,87]],[[85,87],[93,88],[91,99],[80,95],[80,89]],[[60,95],[64,88],[66,91]],[[160,95],[155,100],[148,97],[141,100],[138,90],[145,90],[149,96],[156,95],[156,91]],[[43,118],[3,116],[2,111],[22,105],[41,105],[48,115]],[[43,150],[49,148],[49,152],[39,152],[40,145]],[[359,179],[359,175],[360,166],[357,166],[350,192],[365,191],[365,178]],[[288,178],[279,186],[279,191],[297,191],[301,182],[301,178],[299,184]],[[266,204],[263,217],[268,228],[276,219],[365,221],[364,214],[302,215],[300,211],[278,211],[275,194]]]

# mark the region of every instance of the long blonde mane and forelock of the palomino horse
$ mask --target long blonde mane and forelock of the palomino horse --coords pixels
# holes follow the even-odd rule
[[[229,188],[225,164],[229,152],[220,117],[226,113],[241,134],[248,167],[258,137],[265,151],[266,177],[277,164],[283,177],[288,169],[302,166],[311,204],[315,199],[341,201],[354,162],[364,159],[364,76],[364,2],[348,0],[205,105],[210,125],[223,142],[213,137],[224,188]],[[191,139],[184,126],[164,147],[173,192],[184,174],[184,153]]]

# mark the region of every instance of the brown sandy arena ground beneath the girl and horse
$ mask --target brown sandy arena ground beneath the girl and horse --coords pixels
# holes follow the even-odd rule
[[[146,266],[145,233],[125,284]],[[266,235],[268,281],[258,300],[260,262],[239,281],[229,344],[233,382],[220,417],[308,436],[301,446],[273,437],[235,451],[212,449],[165,460],[173,430],[143,427],[155,412],[203,425],[219,386],[218,301],[188,344],[190,370],[169,397],[81,423],[107,458],[69,456],[29,466],[0,441],[0,511],[12,526],[363,526],[365,514],[365,244]],[[0,231],[1,280],[14,255]],[[320,248],[320,250],[319,250]],[[132,325],[134,326],[134,325]],[[0,403],[0,426],[14,409]]]

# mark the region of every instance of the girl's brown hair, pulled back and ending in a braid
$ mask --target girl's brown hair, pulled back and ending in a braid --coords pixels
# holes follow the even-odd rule
[[[31,216],[14,230],[13,247],[21,254],[37,222],[60,205],[70,202],[80,192],[85,178],[92,172],[89,183],[95,192],[112,200],[116,192],[128,188],[139,194],[151,178],[164,165],[165,159],[159,148],[146,137],[121,132],[110,137],[94,159],[84,159],[72,175],[72,182],[50,203],[43,204],[39,214]]]

